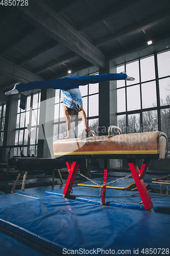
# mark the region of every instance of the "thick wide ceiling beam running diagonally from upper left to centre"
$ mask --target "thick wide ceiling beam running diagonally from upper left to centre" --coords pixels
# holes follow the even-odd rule
[[[30,1],[27,8],[16,8],[22,11],[23,19],[59,41],[70,51],[79,54],[96,67],[105,67],[103,53],[43,0],[40,3],[37,0]]]

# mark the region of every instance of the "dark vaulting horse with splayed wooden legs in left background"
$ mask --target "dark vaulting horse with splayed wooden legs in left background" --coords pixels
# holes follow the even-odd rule
[[[65,159],[56,159],[56,158],[32,158],[32,157],[20,157],[20,158],[11,158],[9,161],[9,166],[16,168],[19,170],[19,174],[17,176],[17,179],[12,187],[12,191],[15,190],[15,187],[19,181],[19,178],[24,172],[23,175],[23,180],[22,180],[22,187],[21,189],[25,188],[25,182],[26,182],[26,177],[27,177],[27,172],[29,170],[49,170],[52,169],[52,184],[53,186],[55,185],[55,169],[57,169],[60,180],[62,184],[64,184],[61,173],[60,173],[60,168],[63,168],[65,166]]]

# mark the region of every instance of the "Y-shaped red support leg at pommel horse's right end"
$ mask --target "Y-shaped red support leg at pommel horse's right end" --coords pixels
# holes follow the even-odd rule
[[[137,166],[136,160],[128,160],[128,164],[132,173],[132,176],[134,178],[134,181],[136,183],[137,189],[139,191],[142,203],[144,205],[145,210],[154,211],[153,204],[151,201],[151,198],[148,194],[147,188],[144,184],[143,177],[147,170],[149,161],[144,161],[141,169],[139,171],[139,168]]]

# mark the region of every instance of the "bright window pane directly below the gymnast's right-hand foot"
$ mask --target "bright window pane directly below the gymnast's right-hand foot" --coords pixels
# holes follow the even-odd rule
[[[140,109],[140,88],[138,86],[127,87],[128,111]]]

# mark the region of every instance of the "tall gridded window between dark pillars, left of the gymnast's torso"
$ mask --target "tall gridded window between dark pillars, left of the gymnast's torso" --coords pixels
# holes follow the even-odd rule
[[[19,108],[20,99],[18,100],[15,156],[37,156],[40,96],[40,92],[27,96],[25,110]]]

